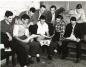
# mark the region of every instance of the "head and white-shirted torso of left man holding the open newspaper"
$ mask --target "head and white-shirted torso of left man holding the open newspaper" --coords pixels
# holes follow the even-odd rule
[[[13,36],[17,40],[26,39],[29,37],[29,30],[28,30],[28,21],[30,20],[30,17],[27,14],[24,14],[21,16],[21,24],[15,25],[13,30]]]

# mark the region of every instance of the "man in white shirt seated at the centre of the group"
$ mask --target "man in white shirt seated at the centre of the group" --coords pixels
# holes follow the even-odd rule
[[[50,40],[44,40],[44,38],[47,36],[49,37],[49,27],[48,24],[45,22],[46,17],[44,15],[41,15],[40,21],[37,23],[37,34],[40,34],[41,37],[39,39],[40,45],[42,46],[43,51],[45,51],[45,48],[47,48],[48,53],[48,59],[52,59],[52,47],[50,45]],[[46,45],[47,42],[47,45]],[[45,47],[46,46],[46,47]]]

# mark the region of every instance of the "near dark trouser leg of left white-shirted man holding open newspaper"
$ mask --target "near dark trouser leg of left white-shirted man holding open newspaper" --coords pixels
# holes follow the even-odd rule
[[[18,61],[19,61],[20,65],[21,66],[27,65],[28,54],[25,50],[25,47],[23,47],[19,43],[19,41],[17,41],[15,38],[13,38],[11,48],[17,54]]]

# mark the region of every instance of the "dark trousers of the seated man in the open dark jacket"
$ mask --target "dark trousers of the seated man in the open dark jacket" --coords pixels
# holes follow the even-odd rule
[[[78,59],[80,57],[81,44],[80,44],[80,42],[76,42],[76,41],[72,41],[72,40],[64,40],[62,42],[62,46],[61,46],[62,58],[65,58],[68,55],[69,43],[74,43],[73,45],[75,45],[75,48],[76,48],[76,58]]]

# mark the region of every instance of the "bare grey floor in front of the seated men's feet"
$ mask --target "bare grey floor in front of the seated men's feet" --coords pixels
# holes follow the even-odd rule
[[[40,63],[37,63],[34,59],[34,64],[31,64],[28,67],[86,67],[86,59],[82,59],[79,63],[74,63],[74,58],[67,57],[65,60],[59,58],[59,56],[54,56],[53,60],[48,60],[46,56],[41,57]],[[7,65],[2,65],[2,67],[7,67]],[[12,64],[8,67],[12,67]],[[20,67],[17,64],[15,67]]]

